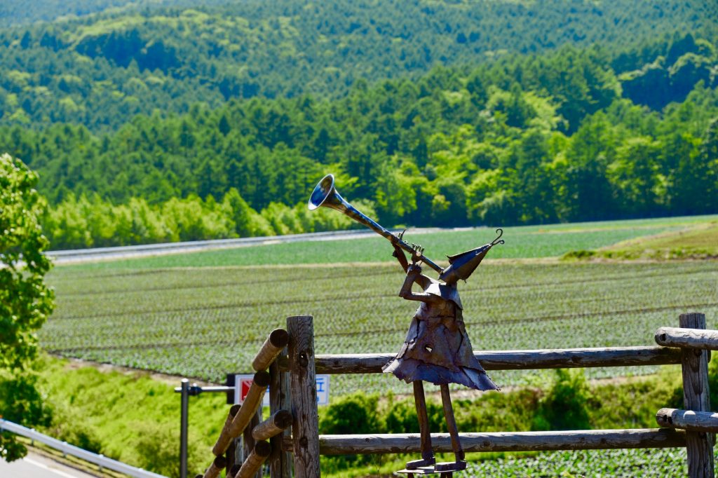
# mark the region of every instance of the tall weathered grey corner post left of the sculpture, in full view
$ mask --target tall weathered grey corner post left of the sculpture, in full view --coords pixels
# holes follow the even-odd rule
[[[312,316],[286,319],[289,331],[289,377],[292,386],[294,477],[319,478],[319,415],[314,370]]]

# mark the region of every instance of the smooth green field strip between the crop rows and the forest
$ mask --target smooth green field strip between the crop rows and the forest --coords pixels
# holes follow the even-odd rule
[[[623,240],[679,231],[718,220],[718,216],[668,217],[610,222],[584,222],[505,228],[506,243],[494,248],[491,258],[545,258],[572,250],[603,248]],[[406,234],[406,240],[426,248],[426,256],[442,261],[448,254],[469,250],[495,238],[492,228]],[[373,238],[307,243],[257,245],[245,248],[185,253],[77,266],[83,271],[105,269],[272,266],[281,264],[392,261],[391,246],[378,235]]]

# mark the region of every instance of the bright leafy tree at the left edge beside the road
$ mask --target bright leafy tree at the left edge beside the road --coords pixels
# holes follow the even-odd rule
[[[8,154],[0,155],[0,415],[23,424],[49,415],[26,368],[37,355],[34,332],[53,307],[43,277],[50,261],[39,217],[45,202],[34,189],[37,174]],[[12,461],[24,447],[0,434],[0,456]]]

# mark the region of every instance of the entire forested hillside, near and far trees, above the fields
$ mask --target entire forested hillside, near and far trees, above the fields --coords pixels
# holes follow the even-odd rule
[[[351,227],[305,211],[327,172],[386,226],[717,212],[716,8],[248,0],[0,29],[0,151],[40,173],[54,248]]]

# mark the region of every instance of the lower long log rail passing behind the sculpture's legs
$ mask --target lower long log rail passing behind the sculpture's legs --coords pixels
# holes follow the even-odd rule
[[[460,434],[465,451],[556,451],[619,448],[680,448],[686,434],[673,428],[627,430],[517,431],[507,433]],[[320,435],[320,454],[392,454],[421,451],[419,434]],[[292,449],[291,439],[282,446]],[[449,434],[432,434],[432,448],[452,451]]]

